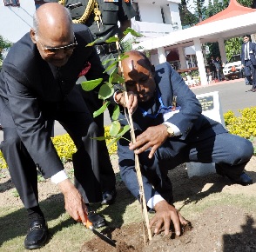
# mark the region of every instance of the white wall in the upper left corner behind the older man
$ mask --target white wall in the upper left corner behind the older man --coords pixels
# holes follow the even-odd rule
[[[12,43],[17,42],[33,25],[36,10],[33,0],[20,0],[20,7],[4,6],[0,1],[0,35]]]

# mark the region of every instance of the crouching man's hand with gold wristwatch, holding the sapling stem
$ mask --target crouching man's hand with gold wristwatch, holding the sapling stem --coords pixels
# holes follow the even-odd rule
[[[152,158],[155,151],[159,148],[160,145],[165,143],[167,138],[168,133],[164,124],[149,127],[142,134],[136,137],[135,143],[129,144],[129,149],[135,149],[134,153],[140,154],[146,149],[152,148],[148,156],[149,158]]]

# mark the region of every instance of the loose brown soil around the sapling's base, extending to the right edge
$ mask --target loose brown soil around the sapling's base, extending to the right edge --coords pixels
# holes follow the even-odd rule
[[[85,242],[81,252],[184,252],[184,251],[256,251],[255,215],[243,213],[242,209],[214,207],[192,220],[193,228],[186,227],[181,236],[154,235],[152,241],[144,242],[143,228],[132,223],[121,229],[106,229],[104,234],[116,242],[116,248],[97,236]],[[240,223],[244,223],[240,225]]]

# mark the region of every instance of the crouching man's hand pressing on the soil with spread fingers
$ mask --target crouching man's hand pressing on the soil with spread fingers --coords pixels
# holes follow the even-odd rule
[[[180,235],[180,223],[185,225],[187,224],[187,221],[180,215],[179,211],[169,205],[166,201],[158,202],[154,209],[156,210],[156,215],[150,222],[150,228],[152,228],[154,223],[156,224],[154,233],[158,234],[164,224],[165,235],[168,235],[171,222],[173,222],[175,234]]]

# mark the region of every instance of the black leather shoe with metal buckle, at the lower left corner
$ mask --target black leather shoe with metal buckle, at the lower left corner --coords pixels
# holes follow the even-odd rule
[[[30,222],[28,235],[24,241],[25,249],[39,249],[47,242],[48,228],[44,220]]]

